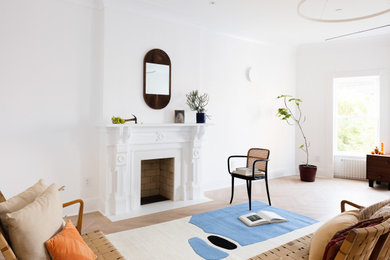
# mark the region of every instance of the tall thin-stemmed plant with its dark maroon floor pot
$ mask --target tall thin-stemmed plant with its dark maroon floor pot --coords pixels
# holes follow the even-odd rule
[[[284,120],[289,125],[298,126],[300,133],[302,134],[304,143],[299,146],[299,149],[305,152],[306,154],[306,163],[299,165],[299,174],[302,181],[313,182],[317,173],[317,166],[309,164],[309,146],[310,143],[306,138],[305,133],[303,132],[302,124],[305,122],[306,117],[302,117],[302,111],[300,104],[302,102],[299,98],[294,98],[290,95],[280,95],[278,99],[283,99],[284,107],[278,109],[278,117],[281,120]],[[292,108],[294,107],[294,108]],[[294,111],[293,111],[294,110]]]

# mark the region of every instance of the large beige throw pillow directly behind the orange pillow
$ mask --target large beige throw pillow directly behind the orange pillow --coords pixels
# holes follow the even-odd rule
[[[9,236],[18,259],[50,259],[44,243],[62,228],[62,204],[50,185],[34,202],[7,214]]]

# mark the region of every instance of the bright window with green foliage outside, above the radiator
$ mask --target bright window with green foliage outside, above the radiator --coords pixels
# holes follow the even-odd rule
[[[334,150],[366,154],[379,141],[379,76],[334,78]]]

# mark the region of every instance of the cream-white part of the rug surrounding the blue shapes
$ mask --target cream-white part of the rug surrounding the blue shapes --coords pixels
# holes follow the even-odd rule
[[[248,259],[291,240],[310,234],[322,224],[316,223],[248,246],[240,246],[235,241],[225,238],[238,246],[234,250],[225,250],[211,244],[207,237],[212,234],[204,233],[202,229],[189,223],[190,219],[191,217],[185,217],[161,224],[109,234],[107,237],[119,252],[129,260],[203,259],[195,253],[188,243],[188,239],[192,237],[199,237],[209,245],[228,253],[229,256],[224,259]]]

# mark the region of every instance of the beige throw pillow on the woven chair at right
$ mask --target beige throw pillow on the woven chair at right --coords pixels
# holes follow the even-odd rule
[[[309,260],[322,259],[326,246],[340,230],[358,223],[359,211],[346,211],[325,222],[313,235],[310,243]]]

